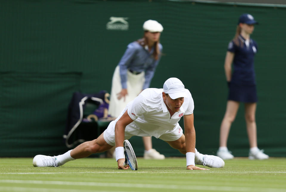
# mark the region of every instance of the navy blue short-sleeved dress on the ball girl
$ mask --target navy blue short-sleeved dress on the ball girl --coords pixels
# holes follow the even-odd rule
[[[228,100],[244,103],[257,102],[254,56],[257,44],[248,42],[239,35],[228,44],[228,51],[234,53],[233,73],[229,85]]]

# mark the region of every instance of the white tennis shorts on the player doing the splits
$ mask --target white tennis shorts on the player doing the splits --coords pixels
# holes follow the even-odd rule
[[[106,143],[109,145],[114,146],[115,145],[115,123],[116,121],[112,121],[109,123],[109,126],[105,129],[103,132],[103,137]],[[160,135],[159,139],[163,141],[175,141],[180,139],[180,137],[183,135],[183,130],[180,127],[179,123],[173,130],[166,130],[165,134]],[[130,139],[132,136],[140,136],[140,137],[145,137],[145,136],[152,136],[140,128],[133,128],[131,126],[126,126],[125,128],[125,135],[124,139]]]

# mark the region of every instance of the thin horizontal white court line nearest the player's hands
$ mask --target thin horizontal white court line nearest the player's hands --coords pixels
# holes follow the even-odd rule
[[[47,173],[0,173],[0,175],[24,175],[24,174],[99,174],[99,173],[111,173],[111,174],[132,174],[132,173],[149,173],[149,174],[156,174],[156,173],[172,173],[172,174],[182,174],[182,172],[168,172],[168,171],[154,171],[154,172],[148,172],[148,171],[122,171],[122,172],[47,172]],[[286,171],[186,171],[185,173],[195,174],[195,173],[286,173]]]

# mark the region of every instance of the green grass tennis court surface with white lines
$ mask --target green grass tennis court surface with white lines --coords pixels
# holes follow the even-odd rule
[[[114,159],[85,158],[56,168],[33,167],[32,160],[0,158],[0,191],[286,191],[286,158],[235,158],[209,171],[185,170],[185,158],[138,158],[137,171],[118,170]]]

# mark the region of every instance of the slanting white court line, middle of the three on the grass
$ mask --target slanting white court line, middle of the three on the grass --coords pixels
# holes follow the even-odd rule
[[[99,186],[99,187],[120,187],[120,188],[153,188],[153,189],[174,189],[178,190],[208,190],[208,191],[237,191],[237,192],[285,192],[279,188],[256,188],[256,187],[233,187],[233,186],[204,186],[204,185],[169,185],[169,184],[146,184],[146,183],[105,183],[105,182],[76,182],[76,181],[43,181],[43,180],[0,180],[0,183],[13,184],[42,184],[42,185],[68,185],[68,186]],[[136,189],[135,191],[138,191]]]

